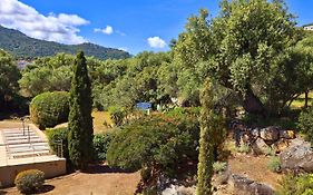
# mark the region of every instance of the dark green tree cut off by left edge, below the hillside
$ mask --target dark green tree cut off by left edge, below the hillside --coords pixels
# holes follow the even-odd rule
[[[19,90],[18,80],[20,71],[11,55],[0,49],[0,110],[8,109],[8,103],[13,100],[13,97]]]

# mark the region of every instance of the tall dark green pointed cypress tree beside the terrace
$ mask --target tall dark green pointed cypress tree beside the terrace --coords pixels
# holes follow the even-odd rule
[[[70,88],[68,147],[74,168],[86,169],[92,153],[92,99],[84,52],[77,55]]]

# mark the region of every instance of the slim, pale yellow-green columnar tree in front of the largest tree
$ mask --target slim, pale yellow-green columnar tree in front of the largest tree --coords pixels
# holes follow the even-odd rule
[[[214,149],[224,130],[224,118],[214,111],[214,89],[211,80],[204,85],[200,94],[200,139],[199,163],[197,175],[197,195],[212,194],[212,176],[214,163]]]

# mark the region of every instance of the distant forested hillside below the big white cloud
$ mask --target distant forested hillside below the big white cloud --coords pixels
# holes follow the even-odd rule
[[[76,53],[85,51],[86,56],[98,59],[124,59],[130,57],[123,50],[105,48],[94,43],[62,45],[27,37],[18,30],[7,29],[0,26],[0,48],[12,52],[17,58],[36,58],[53,56],[58,52]]]

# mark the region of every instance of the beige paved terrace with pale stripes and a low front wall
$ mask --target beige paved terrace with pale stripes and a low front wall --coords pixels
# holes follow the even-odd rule
[[[35,125],[23,128],[21,123],[0,121],[0,185],[12,185],[19,172],[30,168],[55,177],[66,173],[66,159],[51,153],[46,135]]]

